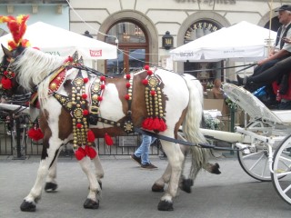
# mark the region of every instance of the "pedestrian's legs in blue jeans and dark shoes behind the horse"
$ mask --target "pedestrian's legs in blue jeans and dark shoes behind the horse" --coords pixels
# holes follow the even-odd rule
[[[156,141],[155,137],[143,134],[143,142],[139,145],[131,158],[138,163],[143,169],[154,170],[157,169],[156,165],[152,164],[149,160],[149,147]]]

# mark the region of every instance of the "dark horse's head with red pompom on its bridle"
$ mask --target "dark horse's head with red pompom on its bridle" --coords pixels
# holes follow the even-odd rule
[[[26,95],[25,89],[17,83],[16,74],[10,68],[16,58],[24,51],[24,47],[18,46],[15,50],[9,51],[2,45],[4,56],[0,64],[0,95],[1,98],[15,99]]]

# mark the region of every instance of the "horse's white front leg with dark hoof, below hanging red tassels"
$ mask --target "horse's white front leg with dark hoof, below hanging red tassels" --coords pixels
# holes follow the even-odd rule
[[[89,180],[89,193],[84,203],[86,209],[97,209],[99,207],[99,200],[96,195],[101,193],[101,187],[97,182],[95,174],[92,171],[91,161],[88,157],[84,157],[79,161],[83,172]]]

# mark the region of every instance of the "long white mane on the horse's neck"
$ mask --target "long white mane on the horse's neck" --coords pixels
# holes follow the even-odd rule
[[[26,48],[11,64],[11,69],[17,72],[17,83],[25,90],[33,92],[35,85],[38,85],[38,98],[42,104],[48,97],[49,78],[46,76],[64,64],[64,61],[65,57]]]

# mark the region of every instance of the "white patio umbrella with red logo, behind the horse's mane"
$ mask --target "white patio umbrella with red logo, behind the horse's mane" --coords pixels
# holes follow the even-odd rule
[[[117,55],[115,45],[43,22],[28,25],[24,38],[28,39],[33,47],[38,47],[49,54],[68,56],[77,51],[85,60],[115,59]],[[7,42],[11,39],[11,34],[4,35],[0,37],[0,44],[7,47]],[[3,55],[2,49],[0,49],[0,55]]]

